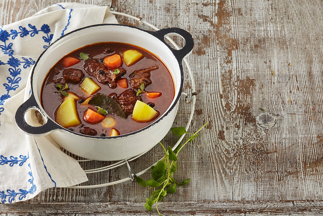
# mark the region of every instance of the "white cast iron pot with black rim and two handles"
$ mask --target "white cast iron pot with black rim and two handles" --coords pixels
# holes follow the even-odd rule
[[[178,35],[185,40],[181,50],[172,49],[165,36]],[[98,42],[123,42],[140,46],[154,53],[167,65],[175,83],[175,97],[168,110],[151,125],[116,137],[94,137],[69,131],[49,118],[40,104],[43,81],[50,68],[68,53]],[[16,111],[17,126],[31,136],[50,136],[64,149],[78,156],[94,160],[121,160],[139,155],[154,147],[170,130],[177,113],[177,102],[183,88],[182,59],[193,49],[192,36],[180,28],[146,31],[134,26],[100,24],[72,31],[46,48],[39,56],[31,74],[31,95]],[[24,116],[30,109],[43,115],[43,126],[27,124]]]

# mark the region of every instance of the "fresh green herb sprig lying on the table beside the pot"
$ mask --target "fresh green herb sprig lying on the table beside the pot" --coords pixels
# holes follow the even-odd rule
[[[145,203],[145,207],[148,211],[152,210],[152,205],[154,203],[156,203],[156,209],[158,211],[157,202],[160,202],[161,199],[167,195],[167,193],[175,193],[177,186],[182,186],[190,182],[191,179],[178,182],[173,177],[173,173],[177,171],[177,155],[187,143],[192,142],[196,137],[199,136],[198,132],[207,124],[208,122],[193,134],[186,132],[184,127],[171,128],[171,131],[176,136],[181,136],[183,134],[188,134],[191,136],[185,137],[187,140],[184,142],[184,144],[181,142],[174,151],[171,147],[166,149],[161,142],[159,142],[165,151],[165,156],[162,160],[157,162],[156,166],[151,166],[151,179],[145,181],[138,176],[135,177],[135,180],[142,187],[149,186],[149,189],[153,189],[150,198],[146,198],[147,202]],[[158,213],[161,215],[159,211]]]

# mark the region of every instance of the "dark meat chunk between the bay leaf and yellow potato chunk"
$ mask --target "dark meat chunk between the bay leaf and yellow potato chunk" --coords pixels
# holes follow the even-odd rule
[[[131,114],[136,101],[141,100],[141,97],[138,97],[132,88],[125,90],[119,96],[116,93],[111,93],[109,96],[120,104],[126,115]]]

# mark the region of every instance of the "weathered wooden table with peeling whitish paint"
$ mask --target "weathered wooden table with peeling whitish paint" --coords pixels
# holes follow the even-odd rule
[[[191,182],[160,203],[161,213],[323,214],[318,201],[323,200],[322,1],[78,2],[109,5],[160,28],[186,29],[195,38],[188,61],[198,96],[190,130],[210,124],[180,154],[176,176]],[[0,25],[54,3],[2,0]],[[184,92],[190,92],[187,73],[185,80]],[[188,114],[182,101],[174,126],[183,126]],[[163,140],[166,145],[175,141],[172,134]],[[161,154],[157,146],[131,166],[140,171]],[[106,164],[93,162],[86,168]],[[89,176],[89,183],[127,175],[121,167]],[[53,188],[24,203],[1,205],[0,215],[157,215],[143,206],[149,194],[130,181],[87,190]]]

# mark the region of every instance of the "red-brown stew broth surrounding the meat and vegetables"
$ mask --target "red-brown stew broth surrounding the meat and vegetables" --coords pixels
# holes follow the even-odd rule
[[[110,47],[112,51],[111,53],[104,53],[105,49],[107,47]],[[162,92],[162,95],[157,98],[148,98],[145,94],[141,94],[142,101],[145,103],[152,102],[155,104],[154,109],[158,110],[160,112],[160,115],[164,114],[165,111],[169,108],[169,106],[172,103],[172,100],[174,98],[174,83],[172,79],[172,75],[169,72],[168,68],[164,65],[164,63],[156,57],[154,54],[150,53],[147,50],[144,50],[140,47],[133,46],[130,44],[125,43],[116,43],[116,42],[105,42],[105,43],[98,43],[93,45],[88,45],[85,47],[82,47],[78,50],[73,51],[72,53],[68,54],[67,56],[75,57],[80,59],[81,61],[78,64],[75,64],[68,68],[76,68],[80,69],[84,72],[85,77],[92,78],[100,87],[101,89],[98,91],[100,93],[109,95],[110,93],[117,93],[118,95],[123,92],[126,89],[132,88],[130,85],[128,88],[122,88],[117,85],[116,88],[109,88],[108,85],[101,84],[97,81],[96,78],[89,76],[84,69],[84,60],[82,60],[79,57],[79,53],[84,52],[89,55],[89,58],[98,58],[98,59],[104,59],[105,57],[113,54],[119,54],[122,57],[122,53],[129,49],[135,49],[142,53],[143,58],[136,62],[135,64],[131,66],[126,66],[124,63],[122,63],[122,68],[124,68],[127,73],[123,75],[121,78],[127,78],[129,80],[129,75],[134,70],[140,70],[143,68],[151,67],[154,65],[158,65],[159,68],[156,70],[151,71],[151,84],[145,88],[146,91],[158,91]],[[54,80],[57,78],[63,77],[62,73],[65,69],[61,63],[62,59],[57,62],[57,64],[52,67],[52,69],[48,72],[41,91],[41,104],[46,113],[49,115],[50,118],[55,119],[55,110],[57,107],[62,103],[64,96],[61,93],[57,92],[57,88],[54,87],[55,83]],[[58,69],[59,73],[55,74],[55,68]],[[83,78],[83,79],[84,79]],[[63,80],[64,81],[64,80]],[[68,83],[68,91],[74,92],[77,94],[80,98],[88,98],[89,95],[85,93],[83,90],[80,89],[78,84]],[[136,91],[138,89],[135,89]],[[93,95],[92,95],[93,96]],[[97,110],[94,108],[94,106],[88,105],[88,106],[81,106],[78,102],[77,108],[78,108],[78,114],[79,118],[81,120],[81,125],[84,124],[84,127],[90,127],[92,129],[95,129],[98,134],[96,136],[100,136],[102,133],[106,134],[106,136],[109,136],[111,128],[105,128],[102,126],[101,123],[98,124],[89,124],[84,121],[83,119],[83,113],[86,110],[86,108],[92,108],[94,110]],[[140,130],[148,125],[150,125],[153,121],[150,122],[136,122],[133,119],[131,119],[131,115],[128,116],[127,119],[117,116],[116,114],[108,114],[106,116],[112,116],[116,120],[115,126],[113,128],[117,129],[120,134],[127,134],[131,133],[137,130]],[[79,126],[76,127],[70,127],[68,129],[73,129],[75,132],[79,133]]]

